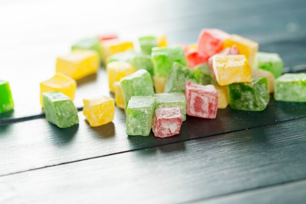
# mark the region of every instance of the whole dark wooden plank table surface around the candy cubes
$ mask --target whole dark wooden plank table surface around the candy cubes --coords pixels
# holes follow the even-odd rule
[[[39,83],[78,39],[164,33],[194,43],[217,27],[278,52],[285,72],[306,72],[305,0],[0,0],[0,78],[15,110],[0,114],[0,203],[305,204],[306,103],[263,112],[187,117],[178,136],[127,136],[125,114],[89,127],[83,97],[109,94],[105,68],[78,81],[80,124],[48,123]]]

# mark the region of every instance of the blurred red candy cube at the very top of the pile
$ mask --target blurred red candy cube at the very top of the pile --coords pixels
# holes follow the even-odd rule
[[[219,29],[202,29],[198,39],[197,46],[203,55],[208,57],[221,51],[223,42],[230,35]]]

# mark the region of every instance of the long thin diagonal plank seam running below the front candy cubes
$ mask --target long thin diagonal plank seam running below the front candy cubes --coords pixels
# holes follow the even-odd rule
[[[44,168],[53,167],[53,166],[65,165],[65,164],[69,164],[69,163],[76,163],[76,162],[79,162],[79,161],[85,161],[85,160],[89,160],[89,159],[98,159],[98,158],[103,158],[103,157],[108,157],[108,156],[113,156],[113,155],[118,155],[118,154],[129,153],[129,152],[135,152],[135,151],[146,150],[146,149],[153,149],[153,148],[157,148],[157,147],[162,147],[162,146],[167,146],[167,145],[171,145],[171,144],[192,141],[192,140],[196,140],[196,139],[202,139],[202,138],[211,137],[211,136],[220,136],[220,135],[225,135],[225,134],[230,134],[230,133],[237,133],[237,132],[244,131],[244,130],[251,130],[251,129],[256,129],[256,128],[260,128],[260,127],[278,125],[278,124],[281,124],[281,123],[286,123],[286,122],[290,122],[290,121],[294,121],[294,120],[303,120],[305,118],[306,118],[306,116],[305,117],[300,117],[300,118],[292,118],[292,119],[288,119],[288,120],[284,120],[284,121],[277,121],[277,122],[264,124],[264,125],[259,125],[259,126],[255,126],[255,127],[241,128],[241,129],[238,129],[238,130],[232,130],[232,131],[227,131],[227,132],[218,133],[218,134],[212,134],[212,135],[208,135],[208,136],[198,136],[198,137],[193,137],[193,138],[189,138],[189,139],[183,139],[183,140],[169,142],[169,143],[166,143],[166,144],[155,145],[155,146],[151,146],[151,147],[136,148],[136,149],[131,149],[131,150],[127,150],[127,151],[121,151],[121,152],[116,152],[116,153],[111,153],[111,154],[106,154],[106,155],[100,155],[100,156],[96,156],[96,157],[90,157],[90,158],[85,158],[85,159],[77,159],[77,160],[72,160],[72,161],[58,163],[58,164],[47,165],[47,166],[43,166],[43,167],[39,167],[39,168],[28,169],[28,170],[24,170],[24,171],[13,172],[13,173],[9,173],[9,174],[2,174],[2,175],[0,175],[0,177],[19,174],[19,173],[28,172],[28,171],[35,171],[35,170],[44,169]]]

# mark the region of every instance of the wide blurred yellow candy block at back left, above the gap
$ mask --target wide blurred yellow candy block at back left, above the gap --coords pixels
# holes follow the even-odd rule
[[[75,80],[96,73],[99,67],[99,56],[92,50],[75,50],[56,60],[56,71]]]

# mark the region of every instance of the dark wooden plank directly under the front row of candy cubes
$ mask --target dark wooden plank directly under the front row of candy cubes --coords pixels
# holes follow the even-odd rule
[[[182,140],[230,133],[306,117],[306,103],[275,102],[263,112],[219,110],[214,120],[187,117],[178,136],[127,136],[125,114],[116,109],[112,123],[91,128],[79,112],[80,124],[59,129],[44,118],[0,126],[0,175],[148,148]],[[305,123],[305,120],[300,122]]]

